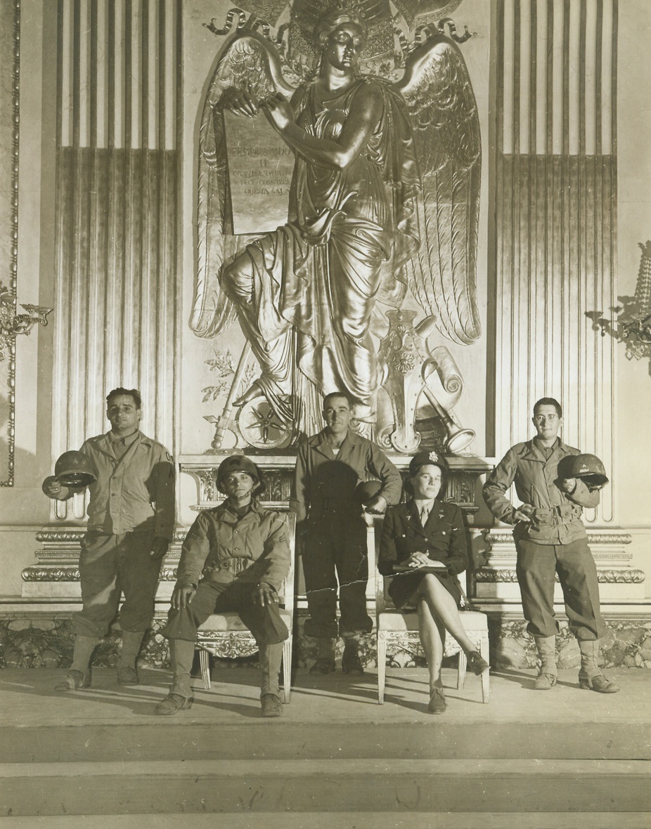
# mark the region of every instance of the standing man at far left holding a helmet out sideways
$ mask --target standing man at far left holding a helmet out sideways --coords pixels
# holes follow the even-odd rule
[[[122,593],[118,681],[139,681],[136,658],[152,622],[158,574],[174,531],[172,458],[139,431],[141,407],[138,390],[110,391],[110,431],[86,440],[80,450],[96,480],[88,487],[88,527],[79,557],[83,606],[72,620],[75,649],[70,671],[56,686],[60,691],[90,686],[90,657],[108,633]],[[62,485],[55,476],[43,482],[43,492],[58,501],[84,489]]]

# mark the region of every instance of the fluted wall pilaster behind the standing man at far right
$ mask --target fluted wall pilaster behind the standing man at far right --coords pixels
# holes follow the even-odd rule
[[[561,400],[568,444],[614,468],[617,0],[499,0],[495,453]],[[616,520],[616,481],[589,522]]]

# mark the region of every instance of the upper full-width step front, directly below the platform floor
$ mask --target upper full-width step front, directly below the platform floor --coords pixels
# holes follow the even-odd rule
[[[0,727],[0,763],[300,759],[651,759],[649,728],[635,721],[81,722]],[[188,712],[190,713],[190,712]]]

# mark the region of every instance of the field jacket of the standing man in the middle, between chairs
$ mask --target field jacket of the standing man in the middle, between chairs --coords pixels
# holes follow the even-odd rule
[[[332,509],[359,512],[355,488],[370,478],[380,479],[378,495],[384,497],[387,504],[400,501],[401,475],[377,444],[348,430],[335,455],[326,434],[323,429],[299,447],[289,502],[297,521],[303,521],[308,511],[312,515]]]

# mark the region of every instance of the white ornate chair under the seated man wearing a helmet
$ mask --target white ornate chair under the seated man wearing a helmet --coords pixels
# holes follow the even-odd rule
[[[289,638],[283,642],[283,702],[289,702],[292,669],[292,636],[294,625],[294,547],[296,515],[284,513],[289,537],[289,573],[279,593],[280,616],[289,630]],[[197,631],[197,650],[202,670],[203,686],[211,688],[210,662],[208,654],[219,659],[250,657],[258,651],[250,630],[242,623],[240,616],[233,613],[212,613]]]

